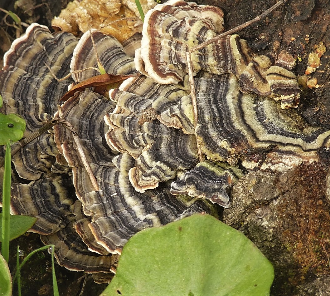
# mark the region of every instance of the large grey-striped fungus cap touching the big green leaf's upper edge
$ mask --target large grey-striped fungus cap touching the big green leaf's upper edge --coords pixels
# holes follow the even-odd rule
[[[133,101],[131,103],[134,105]],[[72,167],[76,195],[82,202],[84,214],[91,218],[88,226],[94,238],[107,252],[120,254],[123,245],[136,232],[164,225],[194,212],[210,212],[210,209],[201,201],[185,204],[173,197],[168,189],[149,190],[145,194],[134,190],[128,176],[134,159],[127,153],[114,157],[104,142],[106,126],[103,118],[111,113],[114,106],[113,101],[90,91],[81,92],[62,106],[63,117],[79,134],[99,190],[95,190],[89,181],[70,132],[59,125],[54,127],[54,131],[59,151]],[[89,248],[99,253],[99,250]]]

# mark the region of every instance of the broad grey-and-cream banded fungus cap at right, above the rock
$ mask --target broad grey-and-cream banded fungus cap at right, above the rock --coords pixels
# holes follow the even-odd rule
[[[317,151],[329,146],[330,131],[309,127],[296,112],[282,110],[271,98],[243,94],[234,75],[200,72],[195,77],[195,89],[197,141],[210,159],[246,158],[244,165],[253,168],[262,165],[259,162],[263,152],[276,148],[291,156],[276,161],[271,157],[270,163],[282,162],[284,166],[292,167],[302,159],[317,160]],[[182,97],[177,107],[171,106],[159,115],[159,120],[167,126],[194,133],[192,116],[185,116],[192,112],[191,104],[186,101],[187,98]]]

